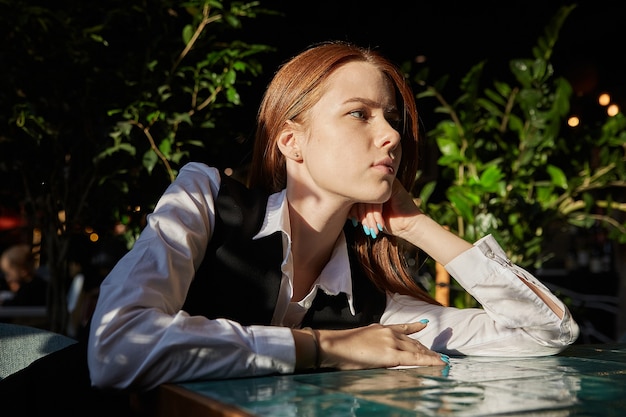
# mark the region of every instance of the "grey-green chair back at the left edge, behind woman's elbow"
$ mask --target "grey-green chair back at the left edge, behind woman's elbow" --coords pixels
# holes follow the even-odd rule
[[[0,323],[0,379],[37,359],[76,343],[71,337],[12,323]]]

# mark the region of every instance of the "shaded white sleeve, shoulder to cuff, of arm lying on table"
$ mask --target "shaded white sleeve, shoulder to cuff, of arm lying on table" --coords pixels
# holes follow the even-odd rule
[[[149,389],[293,372],[288,328],[244,327],[181,310],[211,237],[219,184],[217,170],[185,165],[132,250],[102,283],[88,348],[94,386]]]

